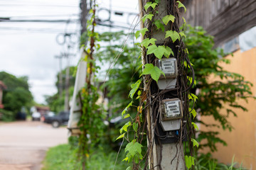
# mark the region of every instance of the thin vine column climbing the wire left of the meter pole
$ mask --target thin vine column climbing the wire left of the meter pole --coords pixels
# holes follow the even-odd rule
[[[92,147],[99,142],[103,129],[102,111],[100,111],[100,106],[97,104],[99,94],[95,86],[95,72],[97,72],[98,67],[96,66],[94,52],[100,47],[97,43],[99,35],[95,32],[96,7],[95,1],[92,1],[89,12],[90,18],[87,20],[88,45],[82,45],[85,53],[82,60],[87,62],[85,86],[79,93],[82,110],[78,122],[81,131],[78,154],[82,162],[82,169],[86,168],[87,158],[90,157]]]

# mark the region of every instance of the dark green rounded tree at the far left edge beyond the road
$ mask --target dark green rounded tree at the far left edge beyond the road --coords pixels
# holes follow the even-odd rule
[[[27,110],[32,106],[33,96],[29,91],[28,77],[15,77],[6,72],[0,72],[0,80],[6,84],[4,90],[3,104],[4,110],[11,112],[11,117],[15,118],[16,113],[25,106]]]

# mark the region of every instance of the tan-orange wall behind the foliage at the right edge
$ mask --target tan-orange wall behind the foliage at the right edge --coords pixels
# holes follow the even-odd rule
[[[256,96],[256,47],[246,52],[240,50],[233,53],[233,57],[228,56],[231,64],[223,65],[229,72],[242,74],[245,80],[252,82],[253,96]],[[235,130],[220,131],[219,137],[228,143],[227,147],[218,145],[218,152],[213,154],[220,162],[230,164],[235,155],[235,162],[242,162],[247,169],[256,169],[256,100],[250,98],[248,103],[241,101],[248,112],[237,110],[238,117],[228,118]],[[207,122],[213,119],[203,118]],[[206,127],[201,126],[202,130]]]

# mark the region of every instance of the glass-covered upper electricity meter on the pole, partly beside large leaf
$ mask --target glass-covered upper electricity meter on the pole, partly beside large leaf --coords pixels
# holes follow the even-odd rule
[[[176,78],[178,76],[177,61],[174,57],[158,60],[157,66],[165,74],[165,77],[161,74],[159,79]]]

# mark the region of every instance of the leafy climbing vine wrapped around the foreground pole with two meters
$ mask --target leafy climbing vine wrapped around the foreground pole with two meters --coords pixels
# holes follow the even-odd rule
[[[152,158],[154,142],[158,142],[161,147],[161,142],[167,137],[167,135],[160,135],[160,128],[157,125],[159,121],[159,101],[163,98],[179,98],[183,101],[181,129],[176,130],[174,136],[176,143],[180,143],[180,145],[182,145],[183,141],[188,141],[186,145],[188,145],[190,152],[184,157],[184,161],[188,169],[191,169],[194,165],[193,147],[198,147],[198,142],[193,138],[193,132],[198,127],[193,122],[196,117],[196,111],[193,106],[197,96],[189,93],[189,89],[196,81],[194,80],[192,64],[188,59],[188,49],[183,43],[183,38],[186,38],[186,35],[178,28],[180,10],[183,8],[183,11],[186,12],[186,7],[180,1],[171,0],[169,3],[167,4],[167,15],[162,16],[162,11],[159,11],[161,1],[146,2],[142,9],[144,16],[141,21],[144,24],[144,28],[135,33],[136,38],[142,35],[144,39],[138,44],[142,50],[142,55],[139,57],[142,57],[143,72],[141,79],[131,85],[132,90],[129,92],[129,97],[132,101],[122,111],[122,118],[130,118],[130,121],[120,129],[120,135],[117,137],[117,140],[124,139],[128,142],[124,149],[126,157],[123,161],[132,162],[132,166],[128,166],[127,169],[142,169],[142,163],[144,164],[144,169],[147,166],[150,169],[154,169],[153,165],[149,163],[149,159]],[[181,28],[185,25],[186,21],[183,18],[183,26]],[[162,42],[156,40],[154,36],[154,32],[157,31],[165,35]],[[169,57],[176,57],[177,60],[178,77],[176,87],[160,91],[156,83],[160,77],[165,77],[165,75],[157,67],[156,61]],[[133,103],[137,100],[139,101],[139,106],[134,106]],[[132,116],[129,114],[130,107],[137,107],[137,115]],[[152,125],[149,125],[150,119]],[[143,148],[146,147],[142,145],[145,135],[147,136],[148,145],[146,151],[143,152]],[[183,155],[183,153],[177,153],[175,157],[180,154]],[[161,169],[160,163],[155,166],[159,166]]]

